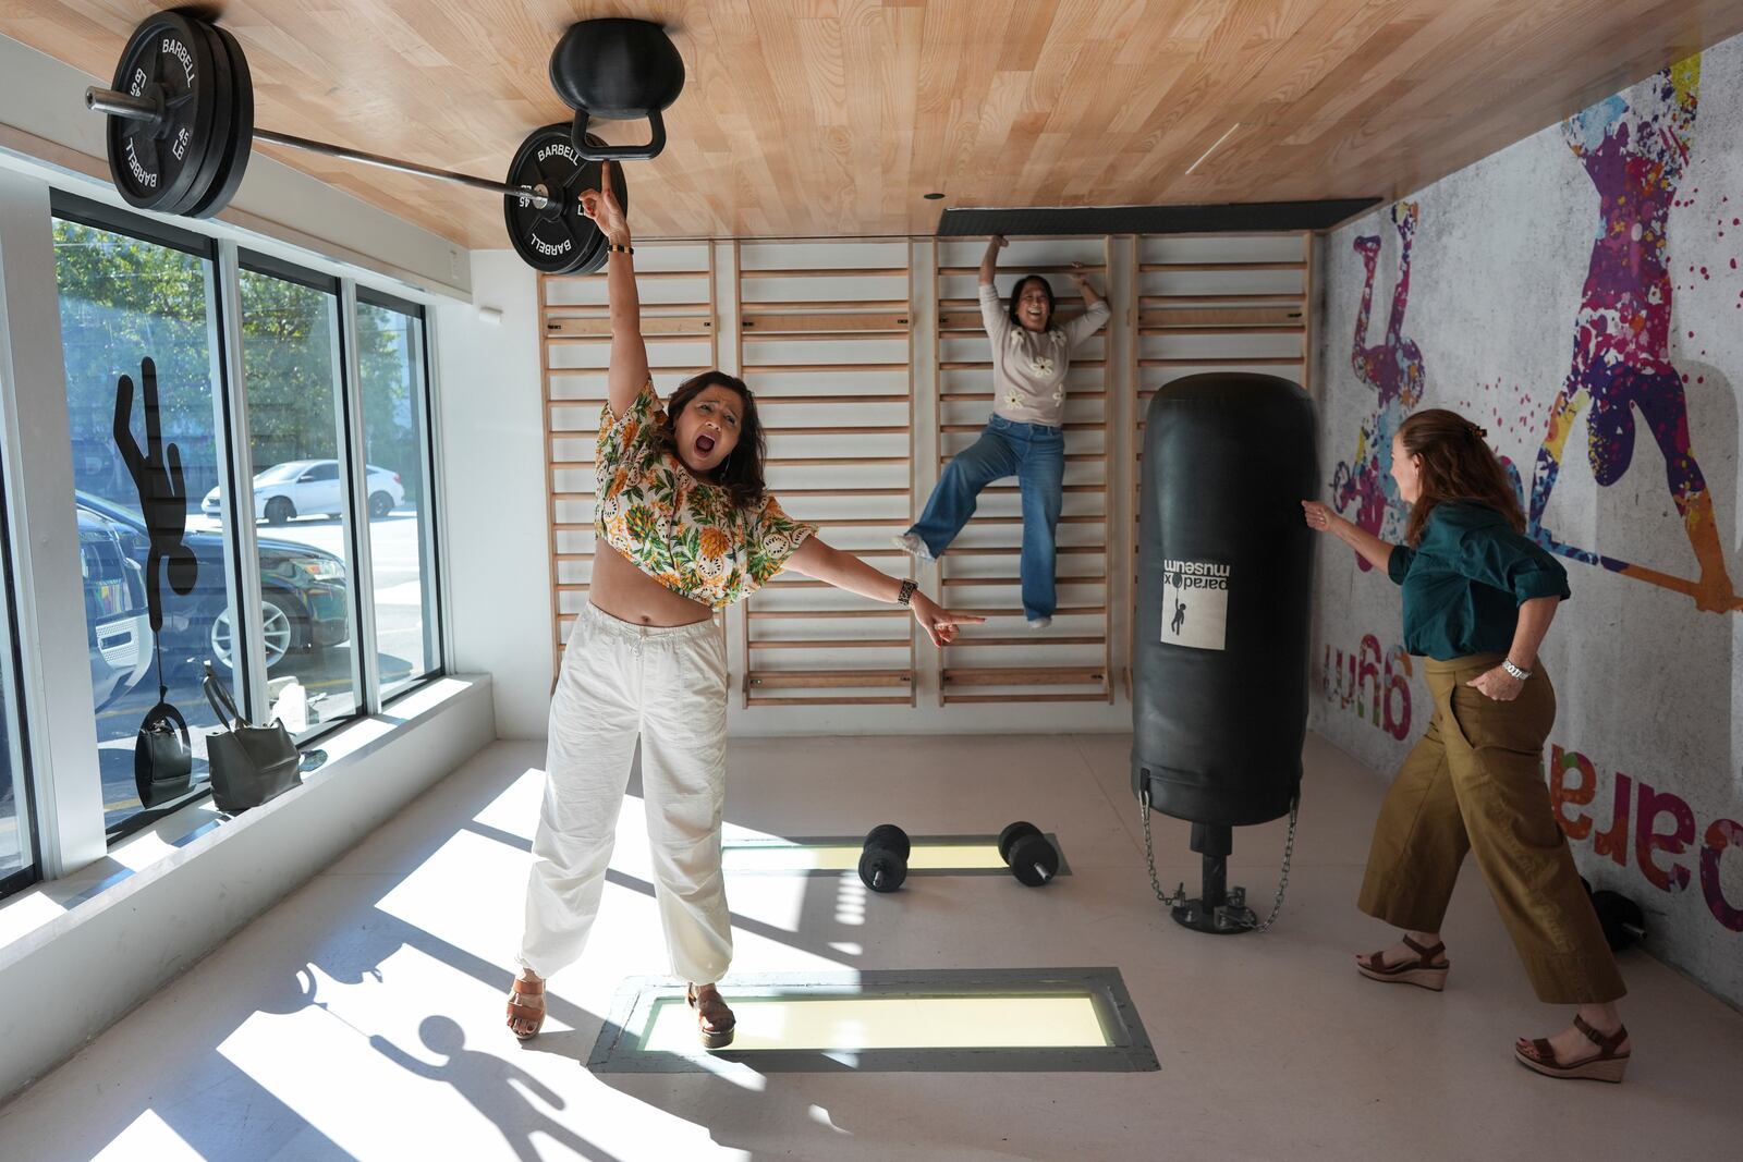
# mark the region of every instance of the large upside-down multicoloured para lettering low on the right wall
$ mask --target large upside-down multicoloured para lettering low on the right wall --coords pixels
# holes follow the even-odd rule
[[[1569,812],[1590,807],[1597,798],[1597,765],[1579,751],[1551,746],[1550,801],[1555,805],[1555,821],[1569,840],[1576,843],[1590,840],[1593,854],[1614,861],[1618,868],[1628,866],[1631,852],[1640,875],[1659,892],[1682,892],[1699,876],[1701,895],[1713,920],[1733,932],[1743,932],[1743,901],[1733,904],[1726,899],[1719,880],[1719,862],[1726,848],[1734,847],[1743,857],[1743,824],[1733,819],[1712,821],[1703,836],[1698,869],[1691,873],[1684,862],[1659,859],[1659,855],[1687,854],[1698,833],[1694,808],[1680,794],[1658,791],[1644,779],[1618,770],[1611,824],[1604,831],[1597,831],[1597,821],[1586,812]],[[1668,831],[1659,831],[1661,821],[1670,824]]]

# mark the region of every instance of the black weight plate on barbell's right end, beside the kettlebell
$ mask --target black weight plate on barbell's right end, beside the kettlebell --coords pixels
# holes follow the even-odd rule
[[[593,274],[605,265],[610,256],[605,235],[580,211],[580,192],[598,185],[600,164],[582,160],[568,139],[566,124],[532,131],[514,152],[504,181],[544,186],[554,199],[544,207],[530,197],[502,199],[509,242],[528,267],[544,274]],[[622,171],[614,172],[612,186],[627,213],[629,192]]]

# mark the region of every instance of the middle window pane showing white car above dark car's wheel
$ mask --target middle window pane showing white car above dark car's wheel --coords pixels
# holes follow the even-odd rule
[[[303,735],[357,713],[338,282],[248,258],[248,385],[260,634],[272,714]],[[216,514],[218,497],[209,498]]]

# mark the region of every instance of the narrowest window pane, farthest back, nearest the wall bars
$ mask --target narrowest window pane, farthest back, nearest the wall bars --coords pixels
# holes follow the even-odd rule
[[[370,462],[370,564],[382,693],[434,672],[436,564],[425,497],[424,317],[418,308],[361,296],[357,361]]]

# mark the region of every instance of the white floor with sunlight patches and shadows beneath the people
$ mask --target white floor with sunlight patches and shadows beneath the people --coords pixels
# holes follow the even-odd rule
[[[858,882],[736,876],[736,972],[1114,965],[1154,1073],[603,1075],[582,1063],[626,976],[666,969],[640,801],[580,965],[528,1047],[502,1028],[542,751],[485,751],[0,1110],[0,1159],[1719,1159],[1743,1143],[1743,1016],[1642,953],[1623,970],[1619,1087],[1511,1059],[1537,1005],[1475,869],[1443,995],[1363,981],[1389,934],[1354,909],[1382,782],[1311,740],[1288,909],[1208,937],[1156,904],[1124,737],[737,742],[730,826],[842,834],[1056,831],[1074,875]],[[1260,908],[1281,824],[1236,834]],[[1194,882],[1157,819],[1163,880]],[[125,970],[125,949],[117,953]],[[729,990],[730,991],[730,990]],[[77,996],[45,996],[77,1005]]]

